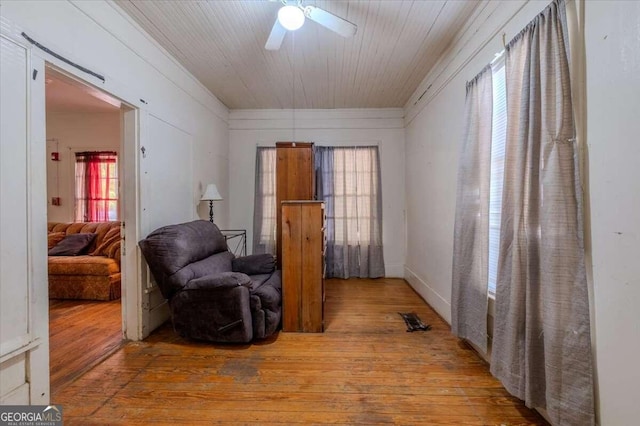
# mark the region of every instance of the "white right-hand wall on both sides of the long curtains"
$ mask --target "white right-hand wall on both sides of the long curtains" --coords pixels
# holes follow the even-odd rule
[[[406,106],[405,277],[450,322],[456,172],[465,83],[548,4],[480,7]],[[640,415],[640,3],[586,2],[592,322],[599,424]],[[416,99],[427,89],[421,102]],[[589,204],[587,204],[587,208]]]

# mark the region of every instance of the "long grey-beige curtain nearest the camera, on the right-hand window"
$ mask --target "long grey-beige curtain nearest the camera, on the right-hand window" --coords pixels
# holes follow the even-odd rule
[[[554,425],[594,424],[582,192],[564,1],[508,46],[491,372]]]

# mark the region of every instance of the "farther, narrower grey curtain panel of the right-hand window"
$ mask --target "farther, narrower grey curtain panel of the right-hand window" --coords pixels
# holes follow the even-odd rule
[[[467,83],[453,244],[452,332],[487,351],[491,66]]]

